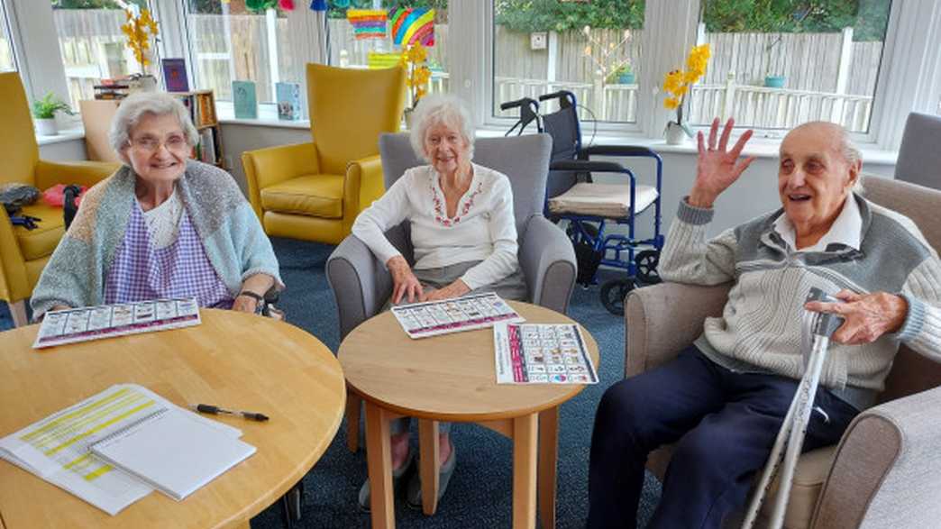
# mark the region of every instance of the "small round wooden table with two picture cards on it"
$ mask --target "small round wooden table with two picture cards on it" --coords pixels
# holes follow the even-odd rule
[[[549,309],[509,303],[526,323],[575,323]],[[597,367],[598,345],[583,328],[582,335]],[[403,415],[419,419],[425,514],[434,514],[438,500],[438,422],[470,422],[513,440],[513,526],[535,526],[537,465],[539,516],[543,527],[555,526],[558,407],[582,385],[498,385],[492,329],[412,340],[388,311],[353,329],[339,358],[347,385],[366,403],[374,528],[395,525],[389,421]]]

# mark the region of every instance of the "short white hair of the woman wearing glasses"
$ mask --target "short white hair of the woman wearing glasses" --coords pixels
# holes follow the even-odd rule
[[[121,159],[126,157],[124,148],[131,140],[131,130],[137,126],[141,118],[148,114],[175,117],[180,121],[180,128],[186,136],[186,143],[193,146],[199,142],[199,133],[196,132],[193,121],[189,119],[189,111],[179,98],[166,92],[137,92],[121,100],[118,112],[111,121],[111,129],[108,131],[111,148],[120,154]]]

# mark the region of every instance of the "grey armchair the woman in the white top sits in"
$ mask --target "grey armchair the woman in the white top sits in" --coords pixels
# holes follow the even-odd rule
[[[528,299],[536,305],[566,313],[575,286],[575,252],[566,233],[542,216],[552,148],[550,136],[540,134],[479,138],[474,163],[507,175],[513,188],[513,210],[519,237],[519,266],[526,277]],[[412,151],[406,134],[379,137],[382,170],[388,189],[407,168],[424,165]],[[386,233],[391,243],[414,263],[407,222]],[[384,263],[357,237],[346,237],[327,259],[327,281],[340,313],[341,339],[374,316],[391,296],[392,280]],[[347,445],[359,448],[359,399],[348,394]]]

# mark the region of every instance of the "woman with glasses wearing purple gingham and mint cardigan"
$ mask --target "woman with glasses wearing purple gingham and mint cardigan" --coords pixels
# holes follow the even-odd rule
[[[135,94],[109,135],[124,165],[88,190],[30,301],[50,310],[195,297],[257,312],[278,261],[231,176],[190,160],[199,136],[179,99]]]

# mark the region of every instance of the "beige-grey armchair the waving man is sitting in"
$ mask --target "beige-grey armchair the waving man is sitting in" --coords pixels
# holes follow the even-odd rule
[[[941,191],[869,177],[866,197],[915,221],[941,248]],[[662,283],[634,290],[625,302],[625,376],[672,360],[722,313],[730,285]],[[798,462],[785,527],[936,527],[941,520],[941,364],[901,347],[878,406],[860,413],[837,446]],[[647,461],[661,479],[672,454]],[[776,489],[776,483],[774,484]],[[770,515],[772,502],[762,514]]]

